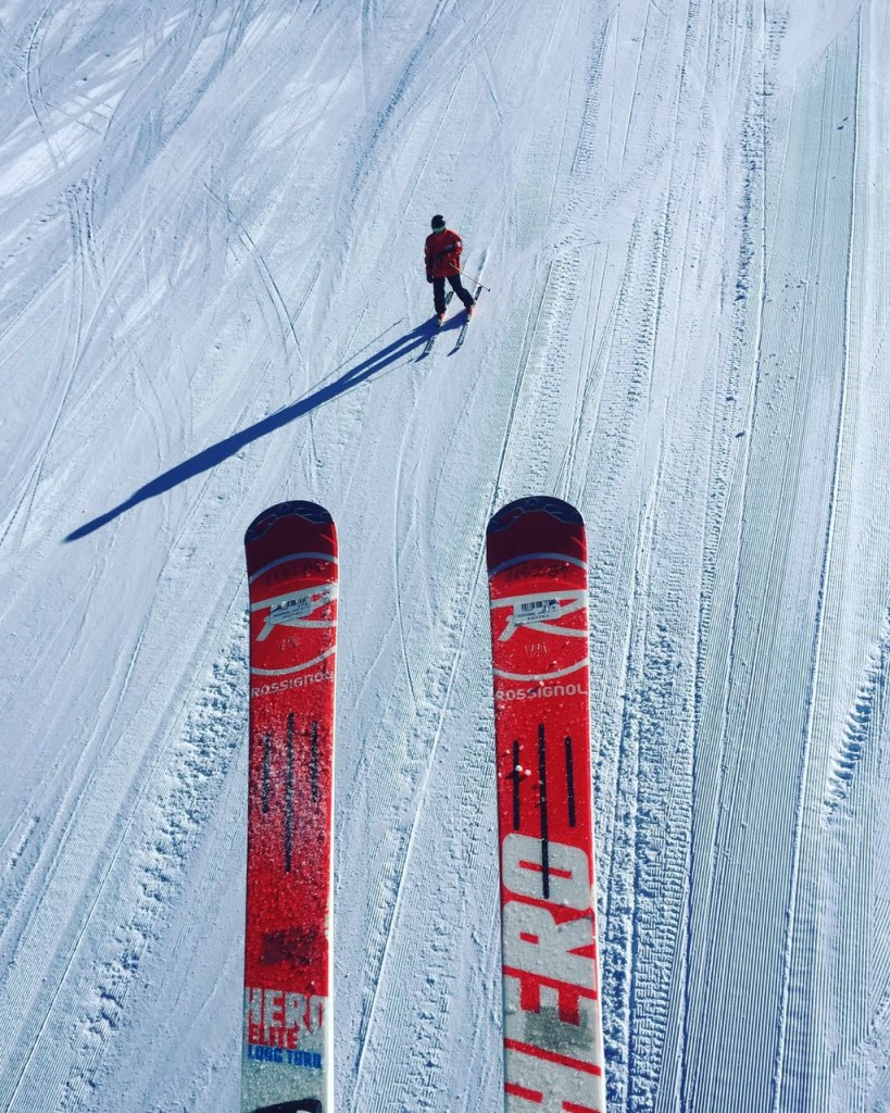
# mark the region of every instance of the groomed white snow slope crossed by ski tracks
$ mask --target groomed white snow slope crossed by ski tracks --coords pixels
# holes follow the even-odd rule
[[[0,2],[0,1109],[238,1107],[241,535],[342,543],[337,1104],[501,1107],[484,529],[591,538],[611,1109],[890,1110],[881,0]],[[432,313],[433,213],[491,294]]]

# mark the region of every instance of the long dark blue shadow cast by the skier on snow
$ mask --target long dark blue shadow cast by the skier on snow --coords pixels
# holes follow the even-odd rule
[[[409,333],[405,333],[404,336],[399,336],[397,341],[387,344],[385,348],[380,348],[379,352],[376,352],[368,359],[363,361],[355,367],[350,367],[346,374],[333,383],[328,383],[327,385],[323,383],[312,394],[304,395],[304,397],[298,398],[289,406],[277,410],[275,413],[269,414],[268,417],[248,425],[247,429],[238,433],[233,433],[231,436],[227,436],[224,441],[210,445],[209,449],[205,449],[190,460],[186,460],[181,464],[170,467],[169,471],[162,472],[156,479],[146,483],[145,486],[140,486],[137,491],[134,491],[126,502],[121,502],[119,505],[106,511],[105,514],[100,514],[98,518],[93,518],[91,521],[78,526],[78,529],[68,534],[65,539],[66,542],[79,541],[81,538],[86,538],[103,525],[108,525],[109,522],[113,522],[116,518],[119,518],[128,510],[132,510],[134,506],[138,506],[140,502],[146,502],[148,499],[164,494],[179,483],[185,483],[186,480],[194,479],[194,476],[200,475],[201,472],[216,467],[224,460],[234,456],[246,444],[258,441],[268,433],[274,433],[275,430],[280,429],[283,425],[296,421],[297,417],[305,417],[313,410],[317,410],[326,402],[330,402],[332,398],[336,398],[338,394],[343,394],[350,387],[357,386],[358,383],[364,383],[366,378],[376,375],[384,367],[388,367],[389,364],[396,363],[396,361],[404,358],[416,348],[425,345],[433,334],[434,327],[432,322],[418,325]],[[340,364],[340,367],[343,366]],[[340,367],[335,368],[330,374],[336,374]]]

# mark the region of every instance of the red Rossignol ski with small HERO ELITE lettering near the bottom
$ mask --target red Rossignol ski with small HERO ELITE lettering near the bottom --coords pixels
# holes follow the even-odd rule
[[[286,502],[245,536],[250,743],[243,1113],[334,1113],[330,995],[337,536]]]

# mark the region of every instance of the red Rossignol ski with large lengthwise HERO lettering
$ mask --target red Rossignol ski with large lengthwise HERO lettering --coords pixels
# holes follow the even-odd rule
[[[604,1113],[584,523],[558,499],[521,499],[487,548],[504,1107]]]

